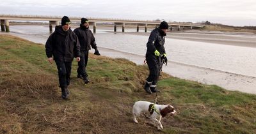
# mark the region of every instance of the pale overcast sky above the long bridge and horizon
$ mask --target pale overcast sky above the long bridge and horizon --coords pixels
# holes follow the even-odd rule
[[[256,0],[0,0],[0,14],[256,26]]]

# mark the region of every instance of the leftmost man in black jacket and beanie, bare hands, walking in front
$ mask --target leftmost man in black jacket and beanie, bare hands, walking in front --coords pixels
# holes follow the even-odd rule
[[[49,63],[55,61],[61,87],[61,97],[67,99],[68,85],[70,84],[71,65],[76,57],[80,61],[80,45],[75,33],[70,29],[70,19],[64,16],[61,26],[56,26],[54,33],[45,43],[45,52]],[[53,55],[53,59],[52,59]]]

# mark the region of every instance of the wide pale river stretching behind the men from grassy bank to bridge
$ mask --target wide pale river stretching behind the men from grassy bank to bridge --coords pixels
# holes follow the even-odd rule
[[[10,31],[12,31],[10,34],[42,44],[45,44],[50,35],[48,26],[10,26]],[[95,39],[100,54],[124,57],[136,64],[143,64],[148,34],[136,34],[133,33],[134,31],[135,29],[125,29],[125,33],[113,33],[113,29],[97,29]],[[191,35],[191,38],[195,38],[196,35],[184,34]],[[224,41],[239,39],[237,42],[241,44],[238,46],[225,45],[218,38],[212,38],[212,40],[218,40],[217,43],[207,43],[178,40],[173,39],[172,36],[182,38],[182,33],[166,37],[164,46],[168,56],[168,66],[163,67],[164,72],[174,77],[204,84],[216,84],[228,90],[256,94],[256,47],[243,47],[243,42],[254,43],[255,41],[256,43],[255,35],[218,34],[221,37],[220,40]],[[235,39],[225,38],[225,36]]]

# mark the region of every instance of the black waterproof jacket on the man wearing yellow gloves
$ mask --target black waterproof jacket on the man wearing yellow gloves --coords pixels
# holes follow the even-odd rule
[[[166,34],[164,34],[164,32],[159,28],[154,29],[150,33],[150,36],[149,36],[148,42],[147,42],[146,57],[147,56],[153,56],[155,50],[158,50],[158,52],[161,55],[166,54],[165,49],[164,49],[164,42],[165,42],[165,37],[164,36],[166,36]]]

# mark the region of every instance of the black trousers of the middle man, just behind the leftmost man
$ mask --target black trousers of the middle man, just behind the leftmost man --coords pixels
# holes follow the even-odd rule
[[[88,77],[86,66],[88,63],[89,50],[81,50],[80,61],[78,62],[77,75]]]

